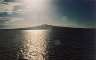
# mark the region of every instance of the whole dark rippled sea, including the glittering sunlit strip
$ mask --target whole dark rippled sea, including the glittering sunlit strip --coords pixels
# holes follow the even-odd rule
[[[95,60],[95,29],[0,30],[0,60]]]

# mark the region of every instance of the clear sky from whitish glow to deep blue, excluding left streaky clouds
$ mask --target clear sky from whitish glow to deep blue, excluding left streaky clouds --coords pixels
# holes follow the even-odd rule
[[[24,20],[10,20],[9,26],[50,24],[76,28],[96,27],[95,0],[20,0],[20,3]]]

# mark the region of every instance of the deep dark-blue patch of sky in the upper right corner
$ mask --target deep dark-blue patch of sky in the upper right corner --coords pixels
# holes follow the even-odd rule
[[[96,20],[95,0],[57,0],[53,2],[57,8],[57,15],[67,16],[71,21],[94,22]]]

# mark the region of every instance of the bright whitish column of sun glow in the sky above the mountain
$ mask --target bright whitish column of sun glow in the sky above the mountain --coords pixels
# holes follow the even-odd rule
[[[51,19],[51,0],[22,0],[25,19],[30,20],[32,25],[50,24]]]

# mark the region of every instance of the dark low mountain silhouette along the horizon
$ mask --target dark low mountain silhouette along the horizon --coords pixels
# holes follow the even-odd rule
[[[64,26],[54,26],[48,24],[42,24],[27,28],[14,28],[12,30],[47,30],[47,29],[54,29],[54,30],[95,30],[96,28],[74,28],[74,27],[64,27]],[[11,30],[11,29],[7,29]]]

